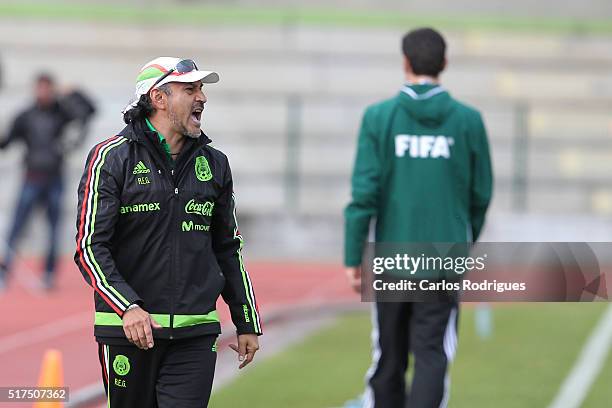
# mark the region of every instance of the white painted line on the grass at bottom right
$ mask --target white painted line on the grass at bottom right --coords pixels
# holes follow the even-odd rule
[[[579,408],[582,405],[606,361],[611,344],[612,305],[609,305],[549,408]]]

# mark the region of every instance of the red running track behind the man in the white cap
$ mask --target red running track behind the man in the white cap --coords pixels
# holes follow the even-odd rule
[[[266,312],[359,301],[340,265],[252,262],[247,266],[264,331]],[[60,262],[58,287],[52,292],[34,288],[38,276],[30,271],[37,269],[33,260],[21,261],[8,289],[0,293],[0,386],[35,386],[44,352],[54,348],[63,355],[64,383],[74,393],[100,381],[92,289],[68,257]],[[233,330],[227,307],[220,303],[224,330]],[[31,404],[11,404],[19,406]]]

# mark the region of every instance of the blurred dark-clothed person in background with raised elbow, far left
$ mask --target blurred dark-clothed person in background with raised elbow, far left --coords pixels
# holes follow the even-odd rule
[[[89,120],[95,112],[92,102],[82,92],[72,90],[59,93],[53,77],[48,73],[41,73],[36,78],[34,98],[34,103],[17,115],[8,134],[0,140],[0,149],[16,141],[24,143],[26,147],[23,185],[0,261],[0,289],[6,285],[17,242],[35,207],[46,210],[49,223],[42,281],[43,288],[53,288],[62,209],[64,156],[86,138]],[[68,141],[66,130],[72,122],[78,124],[79,131],[76,140]]]

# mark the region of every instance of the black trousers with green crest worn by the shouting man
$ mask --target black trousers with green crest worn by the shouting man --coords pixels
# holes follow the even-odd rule
[[[102,378],[111,408],[201,408],[208,406],[215,373],[217,335],[98,345]]]

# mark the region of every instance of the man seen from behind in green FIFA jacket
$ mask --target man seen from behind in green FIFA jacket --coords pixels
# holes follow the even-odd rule
[[[416,29],[404,36],[402,48],[406,84],[366,109],[359,133],[344,254],[356,290],[371,220],[377,243],[475,242],[492,195],[482,117],[439,82],[444,38],[431,28]],[[375,302],[363,405],[446,406],[457,314],[457,301]],[[415,371],[407,393],[409,351]]]

